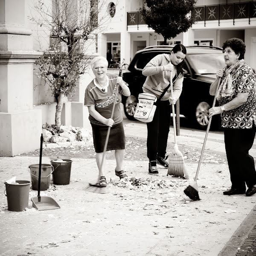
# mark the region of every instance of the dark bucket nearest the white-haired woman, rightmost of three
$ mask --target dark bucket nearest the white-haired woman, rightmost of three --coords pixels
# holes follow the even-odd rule
[[[72,160],[62,159],[64,162],[52,160],[53,166],[52,181],[55,185],[67,185],[70,183],[71,164]]]

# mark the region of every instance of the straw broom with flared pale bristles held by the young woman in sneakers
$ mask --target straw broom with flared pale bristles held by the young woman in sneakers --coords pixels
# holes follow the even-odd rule
[[[173,96],[173,87],[172,87],[172,75],[170,74],[170,83],[171,83],[171,97]],[[184,157],[178,149],[177,139],[176,139],[176,126],[175,126],[175,109],[174,104],[172,104],[172,120],[173,120],[173,131],[174,131],[174,148],[173,151],[169,154],[169,168],[167,175],[172,175],[174,177],[184,177],[185,179],[189,178],[188,173],[186,172]]]

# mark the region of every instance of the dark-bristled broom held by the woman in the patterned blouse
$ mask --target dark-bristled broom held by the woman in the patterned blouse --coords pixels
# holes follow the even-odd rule
[[[213,100],[213,103],[212,103],[212,108],[215,107],[216,97],[217,97],[217,93],[218,93],[218,88],[220,86],[220,82],[221,82],[221,79],[218,79],[218,85],[217,85],[214,100]],[[197,168],[196,174],[195,174],[195,180],[193,181],[192,184],[190,184],[184,190],[184,193],[193,201],[200,200],[199,195],[198,195],[197,178],[198,178],[198,173],[199,173],[200,165],[201,165],[201,162],[202,162],[202,157],[203,157],[203,154],[204,154],[204,147],[205,147],[205,144],[206,144],[206,140],[207,140],[207,136],[208,136],[208,133],[209,133],[211,122],[212,122],[212,116],[209,118],[209,123],[207,125],[207,130],[206,130],[205,137],[204,137],[204,144],[203,144],[203,148],[202,148],[199,163],[198,163],[198,168]]]

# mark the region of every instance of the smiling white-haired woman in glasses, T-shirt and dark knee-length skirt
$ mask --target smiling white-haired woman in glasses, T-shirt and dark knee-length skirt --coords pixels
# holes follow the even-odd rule
[[[97,183],[90,183],[91,186],[104,187],[107,185],[105,172],[104,145],[107,137],[108,127],[111,127],[106,151],[115,150],[116,168],[115,174],[120,178],[127,177],[123,171],[123,159],[125,154],[125,134],[122,123],[122,113],[120,109],[121,93],[130,96],[128,84],[122,77],[114,74],[107,75],[108,61],[102,56],[97,56],[91,61],[91,68],[95,79],[88,84],[84,105],[88,107],[89,120],[93,130],[93,144],[96,151],[96,162],[99,169],[99,179]],[[117,89],[119,84],[119,90]],[[116,102],[114,102],[117,93]],[[111,113],[113,104],[116,104]],[[103,162],[102,162],[103,161]],[[103,164],[102,164],[103,163]]]

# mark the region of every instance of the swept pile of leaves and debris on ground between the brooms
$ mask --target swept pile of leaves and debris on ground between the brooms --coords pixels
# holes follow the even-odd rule
[[[154,180],[144,177],[125,177],[118,181],[111,180],[110,184],[113,186],[128,189],[140,189],[143,191],[148,191],[151,189],[166,189],[170,187],[175,188],[180,186],[180,182],[175,180]]]

